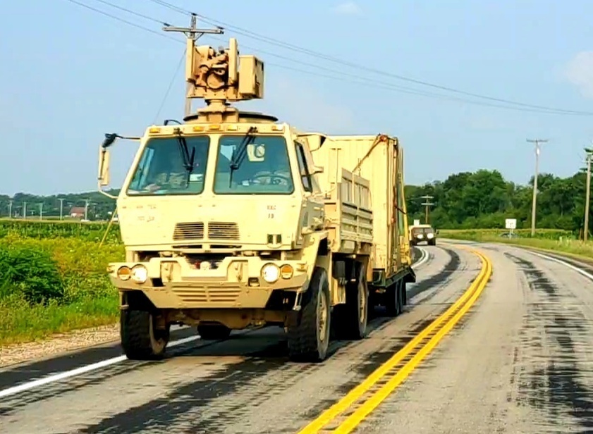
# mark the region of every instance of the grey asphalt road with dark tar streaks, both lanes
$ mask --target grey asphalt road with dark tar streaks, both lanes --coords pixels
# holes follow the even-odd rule
[[[479,244],[494,273],[462,322],[362,421],[357,433],[587,433],[593,429],[593,282],[512,247]],[[103,345],[0,371],[4,433],[298,433],[452,304],[480,269],[439,242],[408,287],[410,306],[375,318],[324,364],[294,364],[279,329],[172,347],[160,362],[108,366],[16,391],[50,373],[119,356]],[[422,259],[421,259],[422,260]],[[593,271],[591,271],[593,273]],[[593,278],[593,276],[592,276]],[[179,330],[177,337],[191,337]],[[587,430],[589,429],[589,431]]]

